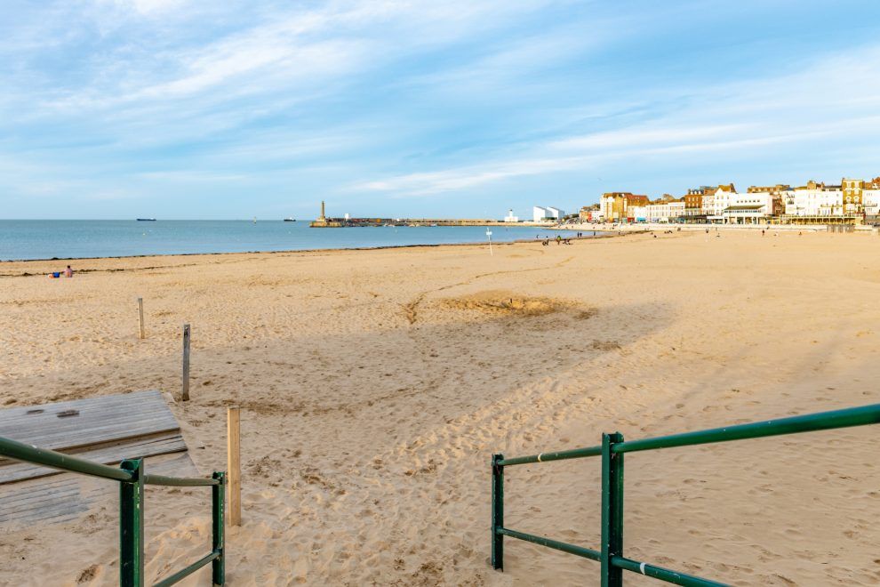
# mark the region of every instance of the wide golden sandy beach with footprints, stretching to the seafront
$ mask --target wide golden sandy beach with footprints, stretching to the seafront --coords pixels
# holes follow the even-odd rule
[[[513,539],[489,568],[491,454],[880,401],[878,253],[682,232],[83,260],[60,280],[44,274],[66,263],[2,263],[0,406],[178,393],[188,322],[192,400],[172,411],[204,474],[243,408],[229,584],[593,585],[597,563]],[[877,432],[630,454],[626,552],[740,585],[876,585]],[[598,547],[598,466],[511,468],[507,526]],[[149,582],[208,550],[209,503],[148,488]],[[0,583],[116,583],[116,510],[0,528]]]

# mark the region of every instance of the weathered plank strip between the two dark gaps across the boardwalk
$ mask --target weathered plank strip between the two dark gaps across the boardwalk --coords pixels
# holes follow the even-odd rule
[[[187,445],[179,432],[164,433],[155,438],[134,438],[112,446],[90,448],[84,452],[70,452],[79,458],[103,464],[116,464],[127,458],[155,456],[156,454],[180,453]],[[68,452],[68,451],[64,451]],[[58,475],[64,471],[43,467],[31,462],[12,462],[0,467],[0,484],[27,478]]]

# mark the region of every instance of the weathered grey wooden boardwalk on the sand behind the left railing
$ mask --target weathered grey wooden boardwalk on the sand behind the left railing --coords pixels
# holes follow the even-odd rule
[[[198,476],[156,390],[0,410],[0,436],[109,465],[148,457],[145,467],[154,473]],[[93,507],[116,507],[117,495],[114,481],[0,458],[4,527],[76,519]]]

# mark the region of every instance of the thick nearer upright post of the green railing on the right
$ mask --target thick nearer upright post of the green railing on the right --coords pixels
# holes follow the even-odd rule
[[[612,453],[620,442],[620,432],[602,435],[602,587],[623,585],[623,569],[612,565],[623,556],[623,454]]]

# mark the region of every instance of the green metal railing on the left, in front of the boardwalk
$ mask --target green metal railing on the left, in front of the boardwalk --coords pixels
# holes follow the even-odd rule
[[[156,587],[177,583],[208,563],[212,566],[215,585],[226,580],[223,540],[223,509],[226,473],[215,472],[211,478],[178,478],[150,475],[144,472],[143,459],[129,459],[119,468],[87,461],[69,454],[26,445],[11,438],[0,437],[0,455],[16,461],[34,462],[53,469],[69,470],[81,475],[112,479],[119,483],[119,584],[142,587],[144,584],[144,486],[211,486],[212,547],[211,553],[193,564],[165,577]]]

